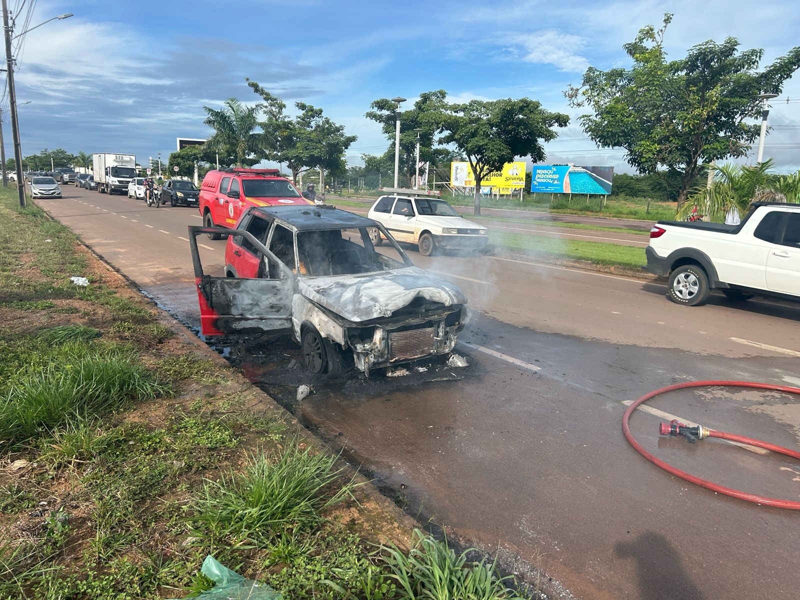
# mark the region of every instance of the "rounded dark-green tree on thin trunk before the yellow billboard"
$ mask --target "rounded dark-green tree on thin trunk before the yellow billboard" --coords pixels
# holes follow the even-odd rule
[[[545,159],[542,142],[558,137],[553,127],[565,127],[566,114],[544,110],[536,100],[511,98],[451,104],[430,118],[443,133],[439,143],[452,144],[466,155],[475,176],[474,214],[481,214],[481,183],[514,158]]]

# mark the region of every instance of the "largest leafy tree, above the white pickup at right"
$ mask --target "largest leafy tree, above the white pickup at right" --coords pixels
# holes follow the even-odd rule
[[[565,95],[586,106],[583,130],[602,148],[621,147],[639,173],[678,174],[678,205],[686,200],[702,163],[745,156],[758,138],[758,94],[779,93],[800,66],[800,47],[758,71],[763,50],[738,50],[736,38],[694,46],[685,58],[668,61],[664,32],[646,26],[623,46],[630,69],[591,66],[580,87]]]

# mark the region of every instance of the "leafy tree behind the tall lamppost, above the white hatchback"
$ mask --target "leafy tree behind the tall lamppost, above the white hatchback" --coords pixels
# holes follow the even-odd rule
[[[411,181],[416,174],[417,134],[419,133],[419,160],[430,162],[431,166],[442,166],[440,162],[449,156],[449,150],[434,148],[434,135],[437,130],[437,116],[442,114],[446,106],[445,90],[434,90],[419,95],[409,110],[400,112],[400,157],[398,160],[398,174],[400,186],[411,186]],[[389,98],[379,98],[370,104],[366,118],[381,124],[381,130],[390,145],[385,156],[391,160],[390,174],[394,183],[394,134],[396,127],[397,104]],[[420,131],[417,132],[416,130]],[[448,162],[448,166],[449,166]],[[385,184],[384,184],[385,185]]]

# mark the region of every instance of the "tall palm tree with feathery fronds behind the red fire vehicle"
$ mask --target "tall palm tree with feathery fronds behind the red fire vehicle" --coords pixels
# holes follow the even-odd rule
[[[236,154],[236,166],[242,166],[245,158],[262,149],[263,134],[253,132],[258,126],[261,104],[245,106],[236,98],[228,98],[220,110],[208,106],[202,108],[208,114],[203,122],[214,130],[206,140],[206,148]]]

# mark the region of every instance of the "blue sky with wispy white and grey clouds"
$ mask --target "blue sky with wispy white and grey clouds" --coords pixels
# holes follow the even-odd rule
[[[9,0],[12,12],[23,0]],[[30,2],[25,0],[22,16]],[[765,50],[762,64],[798,42],[800,13],[788,2],[362,2],[361,0],[38,0],[17,51],[22,154],[132,152],[140,162],[175,150],[175,138],[205,138],[202,106],[258,98],[250,77],[287,104],[319,106],[358,136],[348,156],[386,149],[370,102],[444,89],[454,100],[538,99],[573,116],[546,146],[547,162],[614,165],[597,150],[562,96],[586,66],[627,64],[622,44],[674,13],[666,47],[674,57],[706,39],[734,36]],[[17,31],[22,28],[22,18]],[[782,98],[800,99],[800,75]],[[410,103],[410,102],[409,102]],[[8,122],[5,99],[4,122]],[[766,142],[779,170],[800,167],[800,102],[776,102]],[[6,155],[11,154],[6,129]],[[790,146],[798,144],[798,149]],[[788,145],[788,147],[786,146]],[[357,158],[350,159],[357,164]]]

